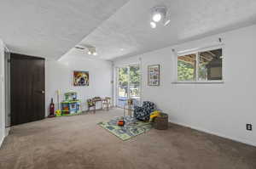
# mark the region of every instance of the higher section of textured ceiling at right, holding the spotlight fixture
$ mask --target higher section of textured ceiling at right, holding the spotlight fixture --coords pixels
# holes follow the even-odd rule
[[[171,24],[167,27],[150,28],[150,8],[156,5],[170,9]],[[115,59],[255,23],[255,0],[131,0],[82,43],[96,46],[96,57]]]

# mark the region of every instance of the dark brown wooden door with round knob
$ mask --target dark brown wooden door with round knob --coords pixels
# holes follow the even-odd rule
[[[11,126],[44,119],[44,59],[11,54]]]

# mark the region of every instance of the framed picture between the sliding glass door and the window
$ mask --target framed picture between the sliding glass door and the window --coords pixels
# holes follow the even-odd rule
[[[148,65],[148,86],[160,86],[160,65]]]

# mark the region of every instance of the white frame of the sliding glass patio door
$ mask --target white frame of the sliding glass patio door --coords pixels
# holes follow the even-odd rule
[[[134,64],[127,64],[127,65],[118,65],[114,67],[114,75],[115,75],[115,85],[114,85],[114,106],[115,107],[119,107],[118,106],[118,98],[119,98],[119,68],[124,68],[126,67],[128,69],[128,89],[127,89],[127,98],[130,98],[130,66],[132,65],[137,65],[139,67],[140,70],[140,85],[139,85],[139,95],[140,95],[140,99],[139,99],[139,104],[142,104],[142,66],[140,63],[134,63]]]

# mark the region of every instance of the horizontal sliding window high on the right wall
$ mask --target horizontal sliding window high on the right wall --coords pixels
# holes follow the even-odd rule
[[[177,56],[177,82],[221,82],[222,48]]]

